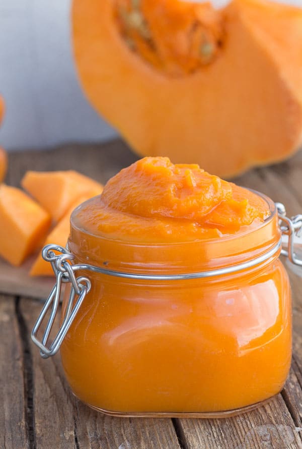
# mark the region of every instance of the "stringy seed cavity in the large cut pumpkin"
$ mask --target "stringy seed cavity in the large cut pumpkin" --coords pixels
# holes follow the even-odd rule
[[[142,2],[155,0],[115,0],[115,19],[120,36],[128,49],[138,55],[147,64],[166,75],[180,77],[195,73],[214,62],[220,53],[224,40],[224,31],[219,13],[213,29],[202,23],[200,14],[194,17],[190,27],[169,27],[167,35],[161,36],[159,31],[152,32],[152,18],[144,16]],[[161,0],[157,0],[161,3]],[[176,2],[177,3],[177,2]],[[197,6],[196,6],[197,8]],[[173,17],[173,16],[171,16]],[[170,18],[171,19],[171,18]],[[154,20],[154,18],[153,18]],[[164,20],[169,24],[169,18],[160,15],[157,21]],[[168,35],[170,32],[171,36]]]

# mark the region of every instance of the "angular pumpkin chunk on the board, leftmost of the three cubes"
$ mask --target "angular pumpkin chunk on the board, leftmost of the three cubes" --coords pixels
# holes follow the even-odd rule
[[[50,215],[16,187],[0,185],[0,255],[20,265],[31,254],[50,225]]]

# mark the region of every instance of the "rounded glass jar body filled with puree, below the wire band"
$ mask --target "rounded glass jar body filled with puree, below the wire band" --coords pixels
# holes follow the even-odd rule
[[[60,350],[85,403],[111,414],[219,416],[281,390],[291,301],[278,259],[207,279],[90,278]]]

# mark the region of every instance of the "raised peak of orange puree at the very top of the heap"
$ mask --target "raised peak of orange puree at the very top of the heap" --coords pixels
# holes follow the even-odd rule
[[[102,200],[116,210],[142,217],[200,221],[231,197],[230,184],[196,164],[174,165],[168,157],[144,157],[107,183]]]

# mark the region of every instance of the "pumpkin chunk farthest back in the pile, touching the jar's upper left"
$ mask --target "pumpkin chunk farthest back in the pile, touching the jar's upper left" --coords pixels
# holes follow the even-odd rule
[[[72,170],[65,172],[27,172],[21,181],[27,190],[58,221],[85,192],[100,194],[103,186]]]

